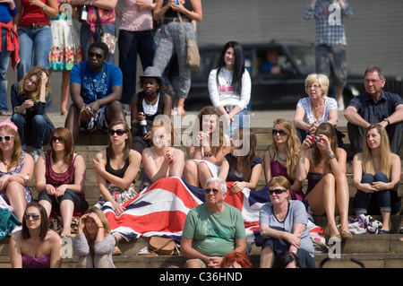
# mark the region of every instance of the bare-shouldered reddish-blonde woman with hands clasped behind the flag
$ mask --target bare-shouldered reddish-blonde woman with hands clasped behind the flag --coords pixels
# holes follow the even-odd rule
[[[152,147],[142,152],[144,168],[141,187],[149,186],[159,178],[182,177],[184,152],[171,145],[174,143],[174,128],[169,117],[160,117],[151,128]]]

